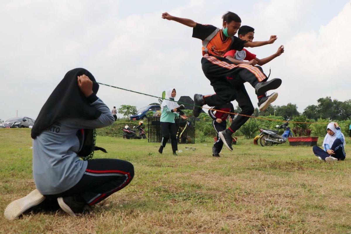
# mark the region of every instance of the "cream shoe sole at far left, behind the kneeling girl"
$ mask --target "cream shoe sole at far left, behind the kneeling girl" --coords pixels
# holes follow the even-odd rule
[[[38,189],[34,189],[24,198],[11,202],[4,211],[5,218],[9,220],[16,219],[27,209],[39,205],[44,200],[45,196]]]

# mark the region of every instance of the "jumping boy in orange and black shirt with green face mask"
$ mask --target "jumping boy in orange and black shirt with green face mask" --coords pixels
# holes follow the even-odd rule
[[[168,14],[162,14],[163,19],[173,20],[193,28],[193,37],[202,40],[201,65],[203,72],[210,80],[216,94],[213,95],[194,95],[194,116],[199,116],[203,105],[218,106],[224,105],[237,99],[247,93],[237,93],[236,87],[249,82],[254,88],[257,95],[263,95],[271,89],[276,89],[282,83],[280,79],[265,81],[267,76],[257,67],[249,64],[235,65],[230,60],[223,58],[224,54],[236,49],[241,51],[244,47],[257,47],[272,44],[277,40],[277,36],[272,35],[268,41],[244,41],[234,36],[241,25],[240,17],[233,13],[227,12],[223,15],[223,28],[217,28],[213,25],[198,24],[191,19],[178,18]],[[252,110],[253,111],[253,110]],[[231,125],[232,127],[232,125]],[[232,151],[232,137],[234,133],[231,127],[218,133],[223,140],[224,145]]]

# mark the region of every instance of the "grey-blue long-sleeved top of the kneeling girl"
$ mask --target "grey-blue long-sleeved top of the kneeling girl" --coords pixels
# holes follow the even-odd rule
[[[33,140],[33,178],[41,194],[65,192],[82,178],[88,162],[77,156],[82,147],[77,137],[79,129],[102,128],[114,122],[110,109],[101,99],[91,103],[91,106],[101,112],[98,119],[64,119]]]

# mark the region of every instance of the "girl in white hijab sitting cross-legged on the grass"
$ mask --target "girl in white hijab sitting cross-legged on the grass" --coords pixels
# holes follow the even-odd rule
[[[323,140],[323,149],[313,146],[313,153],[320,160],[338,161],[346,157],[344,146],[346,145],[345,136],[341,132],[337,122],[330,122],[327,126],[327,134]]]

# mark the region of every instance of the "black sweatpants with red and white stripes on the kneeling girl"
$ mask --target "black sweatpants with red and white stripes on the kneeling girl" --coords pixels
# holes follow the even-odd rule
[[[52,197],[76,196],[94,205],[126,187],[134,177],[133,164],[119,159],[91,159],[80,181],[67,191]]]

